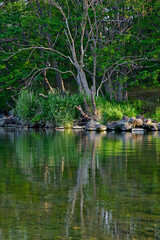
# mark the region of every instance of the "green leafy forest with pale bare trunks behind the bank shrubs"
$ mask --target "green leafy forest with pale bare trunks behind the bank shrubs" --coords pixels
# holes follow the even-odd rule
[[[105,109],[108,100],[128,100],[131,87],[159,87],[159,60],[158,0],[0,1],[0,109],[30,98],[30,117],[42,117],[44,107],[37,110],[33,95],[49,94],[45,105],[54,109],[59,97],[56,104],[64,108],[64,99],[82,104],[81,94],[90,96],[91,87]],[[123,104],[118,108],[125,113]]]

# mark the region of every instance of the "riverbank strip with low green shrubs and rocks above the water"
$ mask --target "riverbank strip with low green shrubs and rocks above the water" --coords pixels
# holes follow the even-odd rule
[[[141,93],[144,94],[143,91]],[[140,97],[141,94],[137,94]],[[157,99],[158,95],[155,97]],[[130,99],[118,103],[107,100],[107,97],[94,100],[95,109],[91,99],[82,94],[66,93],[62,96],[55,91],[54,94],[43,95],[25,90],[19,95],[12,111],[0,114],[0,127],[89,131],[132,131],[134,128],[159,130],[160,107],[156,101],[152,101],[154,107],[150,113],[150,107],[145,108],[147,101]]]

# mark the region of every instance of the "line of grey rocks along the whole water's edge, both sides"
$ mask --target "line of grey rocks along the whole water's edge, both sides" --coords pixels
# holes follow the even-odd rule
[[[23,121],[14,115],[0,116],[0,127],[2,128],[50,128],[50,129],[64,129],[64,127],[56,127],[50,122],[36,122]],[[144,118],[138,115],[135,117],[123,116],[119,121],[112,121],[101,125],[100,123],[90,120],[83,126],[75,125],[72,129],[84,129],[86,131],[160,131],[160,122],[155,122],[150,118]]]

